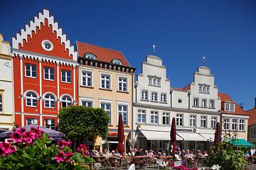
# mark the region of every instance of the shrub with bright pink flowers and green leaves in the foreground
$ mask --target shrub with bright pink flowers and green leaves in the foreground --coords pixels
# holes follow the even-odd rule
[[[14,129],[10,137],[0,143],[0,169],[89,169],[87,164],[93,163],[85,145],[80,145],[78,152],[65,140],[52,145],[39,127]]]

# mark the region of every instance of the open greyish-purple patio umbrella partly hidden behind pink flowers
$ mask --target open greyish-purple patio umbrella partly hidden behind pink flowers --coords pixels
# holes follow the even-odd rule
[[[39,125],[27,125],[27,126],[24,126],[23,128],[26,129],[26,131],[29,131],[31,130],[31,128],[38,128]],[[43,130],[43,132],[45,132],[49,137],[58,137],[58,138],[62,138],[62,137],[65,137],[65,134],[63,132],[58,132],[56,130],[51,130],[49,128],[44,128],[44,127],[41,127],[39,126],[39,129],[40,130]],[[1,132],[0,133],[0,138],[1,139],[6,139],[6,138],[10,138],[9,135],[13,134],[14,130],[8,130],[6,132]]]

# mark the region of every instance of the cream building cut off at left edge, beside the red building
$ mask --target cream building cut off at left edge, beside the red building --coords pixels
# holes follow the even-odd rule
[[[10,42],[0,34],[0,128],[10,130],[14,126],[14,91]]]

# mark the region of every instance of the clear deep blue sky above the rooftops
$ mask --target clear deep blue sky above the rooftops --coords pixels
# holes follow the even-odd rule
[[[46,7],[75,40],[121,50],[141,72],[146,55],[167,67],[171,86],[193,81],[206,56],[219,91],[245,109],[256,97],[256,1],[2,1],[0,33],[5,40]]]

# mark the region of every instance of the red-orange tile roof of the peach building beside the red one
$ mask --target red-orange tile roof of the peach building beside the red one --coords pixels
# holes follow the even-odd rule
[[[96,56],[96,60],[102,62],[112,62],[112,60],[118,59],[121,60],[122,65],[130,67],[129,62],[127,62],[121,51],[111,50],[105,47],[90,45],[85,42],[79,41],[77,41],[77,50],[79,57],[83,57],[85,53],[92,53]]]

